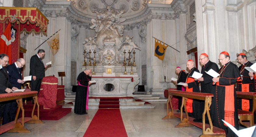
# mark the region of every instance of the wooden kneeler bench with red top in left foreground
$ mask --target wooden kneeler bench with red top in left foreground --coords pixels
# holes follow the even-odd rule
[[[33,97],[34,99],[34,108],[31,114],[31,118],[24,117],[24,109],[23,109],[23,98]],[[39,119],[39,104],[37,101],[37,91],[24,91],[24,92],[16,92],[16,93],[4,93],[0,94],[0,102],[8,101],[8,100],[16,100],[18,104],[18,109],[14,122],[7,123],[5,125],[0,126],[0,134],[4,132],[21,132],[21,133],[30,133],[30,131],[24,127],[24,123],[34,123],[34,124],[43,124]],[[34,110],[37,105],[37,115],[34,115]],[[18,120],[20,110],[22,111],[22,118]]]

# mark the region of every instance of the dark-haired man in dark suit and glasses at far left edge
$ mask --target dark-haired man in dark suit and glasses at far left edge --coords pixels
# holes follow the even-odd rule
[[[0,94],[2,93],[11,93],[14,90],[18,90],[18,88],[14,87],[9,82],[9,76],[7,69],[5,68],[6,65],[9,63],[9,57],[6,54],[0,54]],[[5,109],[5,102],[0,102],[0,119],[2,118],[3,112]]]

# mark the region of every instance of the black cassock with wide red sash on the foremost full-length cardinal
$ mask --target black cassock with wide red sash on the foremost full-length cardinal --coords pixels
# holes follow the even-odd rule
[[[219,69],[219,74],[219,82],[216,83],[216,103],[212,104],[216,107],[213,126],[224,129],[226,136],[236,136],[230,128],[224,125],[222,119],[237,130],[239,129],[234,85],[237,80],[241,80],[240,72],[238,67],[229,61]]]

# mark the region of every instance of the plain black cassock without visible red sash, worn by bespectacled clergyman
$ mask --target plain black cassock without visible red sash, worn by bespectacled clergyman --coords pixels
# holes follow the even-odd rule
[[[212,98],[212,104],[216,104],[215,100],[216,100],[216,85],[212,84],[212,76],[206,74],[205,71],[209,71],[210,69],[218,72],[219,71],[219,67],[216,63],[212,62],[212,61],[208,61],[205,65],[202,66],[201,69],[201,74],[203,74],[203,78],[204,81],[201,81],[201,93],[211,93],[213,94],[213,98]],[[211,105],[210,107],[210,116],[211,116],[211,120],[212,122],[214,121],[213,119],[213,115],[214,115],[214,111],[216,110],[215,105]],[[204,112],[204,101],[202,101],[201,104],[201,112],[200,114],[203,114]],[[201,119],[201,118],[200,118]],[[205,121],[208,121],[208,117],[207,115],[205,115]]]

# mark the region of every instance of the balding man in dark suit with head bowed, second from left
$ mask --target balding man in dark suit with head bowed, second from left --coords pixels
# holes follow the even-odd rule
[[[7,66],[10,83],[21,89],[22,80],[21,68],[26,64],[23,58],[17,59],[16,62]],[[3,125],[15,120],[15,113],[17,110],[16,100],[10,100],[5,104],[5,110],[3,114]]]

